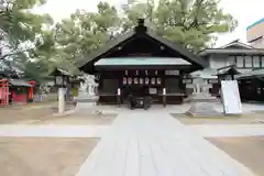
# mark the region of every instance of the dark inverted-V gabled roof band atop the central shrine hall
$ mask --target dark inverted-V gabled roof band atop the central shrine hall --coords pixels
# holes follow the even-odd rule
[[[123,35],[117,36],[114,40],[111,40],[109,43],[107,43],[103,47],[92,52],[89,56],[86,56],[82,61],[80,61],[78,64],[79,68],[81,69],[86,64],[90,63],[91,61],[97,62],[103,54],[109,52],[111,48],[118,47],[121,43],[124,43],[136,35],[150,36],[151,38],[162,43],[166,47],[177,51],[180,55],[183,55],[183,57],[185,57],[186,61],[188,61],[190,63],[195,63],[195,64],[199,65],[200,67],[208,66],[207,62],[205,62],[199,56],[193,54],[187,48],[184,48],[180,44],[173,43],[172,41],[168,41],[165,37],[157,36],[156,34],[154,34],[154,32],[152,32],[150,29],[147,29],[144,25],[144,20],[140,19],[139,24],[138,24],[138,26],[135,26],[134,30],[131,30]],[[87,58],[89,58],[89,59],[87,61]]]

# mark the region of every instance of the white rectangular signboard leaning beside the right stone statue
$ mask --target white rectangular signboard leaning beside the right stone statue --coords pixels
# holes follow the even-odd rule
[[[222,80],[221,94],[226,114],[241,114],[242,105],[237,80]]]

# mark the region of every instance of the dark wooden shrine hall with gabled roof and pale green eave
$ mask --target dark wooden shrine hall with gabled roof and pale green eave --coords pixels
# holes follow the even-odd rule
[[[205,67],[204,59],[155,35],[140,19],[134,30],[86,56],[79,69],[96,76],[99,103],[124,103],[135,91],[148,94],[153,103],[167,105],[182,103],[185,75]]]

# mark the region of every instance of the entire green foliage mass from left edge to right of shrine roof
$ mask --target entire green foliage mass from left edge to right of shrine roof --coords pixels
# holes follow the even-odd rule
[[[161,0],[157,6],[148,0],[148,3],[127,6],[121,12],[107,2],[100,2],[97,12],[77,10],[47,30],[53,24],[52,18],[30,12],[44,2],[0,0],[0,42],[8,41],[6,43],[11,51],[10,55],[0,55],[0,58],[12,56],[26,77],[35,77],[35,73],[40,73],[35,78],[38,80],[54,67],[78,74],[75,65],[79,58],[117,34],[132,30],[139,18],[147,19],[146,25],[158,35],[179,42],[194,52],[211,46],[217,33],[233,31],[238,25],[219,8],[218,0]]]

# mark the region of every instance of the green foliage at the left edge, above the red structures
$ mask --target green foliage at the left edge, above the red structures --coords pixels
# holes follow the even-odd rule
[[[0,61],[10,70],[22,72],[26,79],[42,80],[51,67],[55,51],[53,19],[34,14],[32,8],[44,0],[0,0]],[[4,64],[7,65],[7,64]]]

